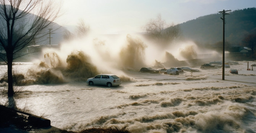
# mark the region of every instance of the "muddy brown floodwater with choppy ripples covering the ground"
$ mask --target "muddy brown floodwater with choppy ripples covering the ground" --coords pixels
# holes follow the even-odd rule
[[[17,63],[14,67],[29,75],[39,65]],[[3,75],[7,66],[0,67]],[[53,73],[45,69],[34,72],[45,76],[26,81],[30,84],[23,86],[15,102],[18,108],[50,119],[52,126],[72,131],[115,126],[132,133],[254,133],[256,71],[246,70],[247,61],[231,68],[238,74],[226,68],[225,81],[222,69],[180,75],[125,70],[117,74],[123,81],[117,87],[89,86],[79,80],[63,82],[57,77],[51,80],[58,84],[43,84],[42,79]],[[39,81],[41,84],[36,84]],[[4,86],[1,84],[1,90]],[[1,104],[8,101],[3,96],[0,100]]]

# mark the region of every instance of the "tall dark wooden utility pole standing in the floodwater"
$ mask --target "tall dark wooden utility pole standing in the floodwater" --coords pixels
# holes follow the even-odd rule
[[[225,15],[227,15],[228,13],[226,13],[227,11],[231,11],[231,10],[223,10],[223,11],[219,11],[219,13],[222,13],[222,17],[220,17],[220,19],[222,19],[223,21],[223,52],[222,52],[222,80],[225,80]]]

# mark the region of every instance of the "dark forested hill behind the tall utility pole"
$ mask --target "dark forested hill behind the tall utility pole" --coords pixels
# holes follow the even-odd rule
[[[180,24],[185,39],[202,44],[222,41],[223,21],[221,13],[198,17]],[[256,8],[240,9],[225,15],[225,40],[231,45],[241,44],[248,34],[256,34]]]

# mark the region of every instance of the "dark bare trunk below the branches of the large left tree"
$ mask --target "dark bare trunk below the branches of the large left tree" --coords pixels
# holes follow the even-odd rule
[[[8,97],[13,97],[13,54],[7,54]]]

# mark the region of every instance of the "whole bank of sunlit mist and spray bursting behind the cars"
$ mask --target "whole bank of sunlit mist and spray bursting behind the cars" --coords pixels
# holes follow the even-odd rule
[[[163,44],[161,44],[163,43]],[[100,73],[126,77],[124,70],[191,65],[199,48],[191,41],[152,41],[143,35],[87,35],[63,42],[60,50],[44,49],[44,56],[24,74],[23,84],[62,84],[86,81]]]

